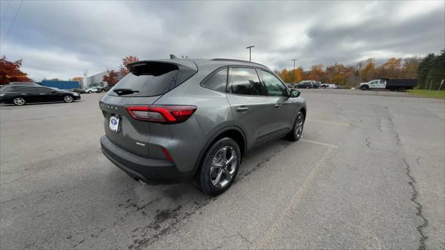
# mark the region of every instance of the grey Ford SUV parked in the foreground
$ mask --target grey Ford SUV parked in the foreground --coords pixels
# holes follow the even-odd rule
[[[241,60],[143,60],[104,95],[102,152],[131,178],[197,178],[216,195],[246,151],[302,135],[306,101],[268,67]]]

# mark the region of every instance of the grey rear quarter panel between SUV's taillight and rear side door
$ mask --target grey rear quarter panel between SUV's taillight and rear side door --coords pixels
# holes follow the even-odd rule
[[[200,68],[200,72],[155,102],[156,105],[197,106],[192,117],[184,123],[168,126],[150,123],[150,130],[156,130],[156,135],[152,134],[149,144],[167,143],[170,155],[181,171],[193,170],[212,135],[234,124],[226,94],[200,85],[212,71]]]

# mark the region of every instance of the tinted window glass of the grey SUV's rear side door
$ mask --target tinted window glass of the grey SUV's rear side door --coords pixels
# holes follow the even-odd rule
[[[261,83],[257,70],[234,67],[230,69],[228,92],[233,94],[261,95]]]

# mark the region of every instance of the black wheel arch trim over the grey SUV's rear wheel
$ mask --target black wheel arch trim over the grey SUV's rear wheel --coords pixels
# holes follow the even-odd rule
[[[194,176],[197,176],[200,172],[202,160],[204,160],[204,156],[211,147],[211,145],[216,142],[217,140],[220,140],[221,138],[232,138],[235,140],[236,143],[238,143],[240,150],[241,150],[241,161],[243,160],[243,156],[245,154],[245,151],[247,151],[247,140],[245,137],[245,133],[241,128],[238,128],[237,126],[227,126],[225,128],[221,128],[219,131],[214,133],[209,140],[204,144],[204,147],[202,147],[200,154],[197,158],[197,161],[195,162]]]

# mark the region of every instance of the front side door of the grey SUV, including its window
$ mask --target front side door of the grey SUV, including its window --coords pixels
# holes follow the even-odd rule
[[[288,90],[282,81],[272,72],[260,69],[261,79],[266,87],[270,99],[270,123],[273,124],[273,133],[270,139],[280,138],[289,133],[293,126],[293,118],[297,114],[294,99],[289,97]]]

